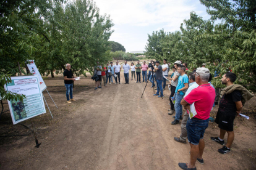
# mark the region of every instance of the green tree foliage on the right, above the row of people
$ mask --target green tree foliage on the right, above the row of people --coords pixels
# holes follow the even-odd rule
[[[224,75],[232,70],[237,84],[256,92],[256,1],[201,0],[207,6],[210,20],[202,20],[195,12],[181,24],[181,31],[148,35],[146,54],[168,62],[182,60],[190,71],[207,63],[214,75],[215,70]],[[223,22],[215,24],[216,19]],[[213,60],[219,59],[218,66]],[[221,76],[213,78],[215,87],[224,87]]]

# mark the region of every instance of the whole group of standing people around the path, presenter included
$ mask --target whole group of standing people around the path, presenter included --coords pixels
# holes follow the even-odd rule
[[[216,61],[217,62],[217,61]],[[131,70],[132,78],[136,81],[135,75],[137,76],[137,83],[140,82],[140,75],[142,70],[143,82],[147,79],[152,83],[151,87],[155,87],[155,80],[157,85],[156,95],[163,97],[163,89],[166,86],[166,80],[169,81],[169,89],[171,91],[169,96],[170,109],[168,115],[173,115],[174,120],[171,122],[172,125],[179,124],[181,121],[181,134],[179,137],[174,137],[176,142],[181,144],[190,144],[190,161],[189,163],[179,163],[179,167],[182,169],[197,169],[195,167],[196,161],[203,164],[203,150],[205,142],[203,136],[205,130],[208,127],[210,111],[214,105],[219,104],[218,113],[216,115],[215,123],[220,128],[219,137],[211,137],[210,139],[217,142],[218,144],[224,145],[218,149],[221,154],[226,154],[231,151],[231,145],[234,140],[233,124],[236,116],[241,113],[244,103],[252,98],[254,95],[247,91],[243,86],[234,84],[236,81],[236,74],[227,72],[221,77],[221,83],[226,85],[220,92],[220,89],[215,89],[211,81],[210,70],[206,68],[206,63],[202,64],[202,67],[194,69],[191,73],[187,73],[187,63],[183,63],[177,60],[173,63],[173,66],[167,63],[167,60],[163,60],[163,65],[160,65],[159,61],[150,61],[150,68],[143,62],[140,64],[137,61],[137,65],[134,63],[130,65],[124,62],[124,65],[113,65],[113,62],[107,64],[106,67],[102,67],[97,63],[95,66],[94,73],[98,75],[98,80],[95,81],[95,90],[101,88],[101,79],[104,80],[104,86],[113,83],[113,77],[117,84],[120,83],[120,71],[124,70],[124,78],[126,79],[125,84],[129,84],[129,70]],[[215,63],[218,66],[218,63]],[[70,64],[66,65],[67,69],[64,71],[64,83],[67,89],[67,102],[75,101],[72,97],[72,81],[75,81],[75,77],[70,71]],[[168,76],[169,68],[172,68],[173,74],[171,77]],[[147,75],[148,70],[148,75]],[[135,74],[136,72],[136,74]],[[216,70],[213,78],[220,77],[220,71]],[[144,79],[145,78],[145,79]],[[163,85],[163,86],[162,86]],[[218,95],[222,95],[220,103],[216,100]],[[70,94],[70,99],[69,99]],[[182,118],[182,106],[184,107],[184,116]],[[195,110],[196,113],[193,115],[191,112]],[[228,140],[224,143],[224,136],[228,134]]]

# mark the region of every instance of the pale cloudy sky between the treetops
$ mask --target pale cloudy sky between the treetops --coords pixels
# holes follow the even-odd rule
[[[148,34],[164,29],[180,30],[184,19],[194,11],[204,20],[210,18],[199,0],[95,0],[100,15],[110,15],[114,26],[109,41],[122,44],[126,52],[145,51]]]

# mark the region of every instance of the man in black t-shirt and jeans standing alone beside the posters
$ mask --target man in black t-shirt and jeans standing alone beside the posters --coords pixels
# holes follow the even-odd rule
[[[63,72],[64,75],[64,83],[66,86],[66,97],[67,97],[67,103],[71,103],[70,101],[75,101],[73,99],[73,81],[75,81],[75,77],[71,70],[71,65],[69,63],[66,64],[66,70]],[[69,100],[69,94],[70,94],[70,100]]]

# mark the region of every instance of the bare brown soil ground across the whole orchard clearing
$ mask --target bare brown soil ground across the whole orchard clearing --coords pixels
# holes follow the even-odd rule
[[[167,87],[163,99],[153,96],[148,83],[108,84],[94,90],[91,76],[75,81],[74,99],[66,102],[66,88],[62,75],[45,78],[46,91],[53,119],[47,113],[33,118],[36,136],[41,145],[35,147],[30,129],[13,125],[7,111],[0,120],[0,136],[28,134],[19,137],[0,137],[0,169],[180,169],[179,162],[189,162],[189,144],[179,144],[181,125],[171,125],[168,115]],[[171,72],[169,73],[171,74]],[[131,74],[129,73],[129,76]],[[220,130],[209,123],[205,131],[205,164],[196,163],[197,169],[256,169],[255,97],[246,103],[245,115],[234,121],[235,139],[231,152],[221,155],[222,146],[210,140]],[[7,103],[4,101],[4,103]],[[7,105],[4,105],[7,110]],[[218,106],[211,111],[215,117]],[[23,121],[32,127],[30,121]],[[226,136],[225,136],[226,142]]]

